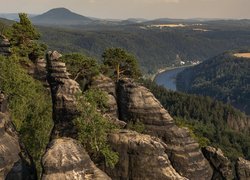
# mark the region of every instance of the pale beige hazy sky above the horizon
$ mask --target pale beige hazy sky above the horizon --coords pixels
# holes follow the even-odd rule
[[[0,0],[0,13],[41,14],[65,7],[78,14],[108,19],[250,19],[250,0]]]

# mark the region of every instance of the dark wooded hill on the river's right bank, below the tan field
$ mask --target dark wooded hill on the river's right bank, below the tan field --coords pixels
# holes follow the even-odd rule
[[[250,114],[250,59],[234,53],[226,52],[185,69],[177,76],[177,89],[231,103]]]

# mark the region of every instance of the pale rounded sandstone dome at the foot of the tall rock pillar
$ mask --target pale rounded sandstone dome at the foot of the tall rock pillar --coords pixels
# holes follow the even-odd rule
[[[84,148],[71,138],[53,140],[42,162],[43,180],[110,180],[94,165]]]

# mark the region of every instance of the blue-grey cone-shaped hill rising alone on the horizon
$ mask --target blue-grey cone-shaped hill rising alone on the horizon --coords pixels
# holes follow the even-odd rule
[[[55,8],[48,12],[31,18],[37,25],[86,25],[94,23],[95,20],[71,12],[66,8]]]

